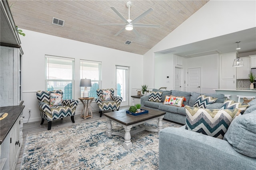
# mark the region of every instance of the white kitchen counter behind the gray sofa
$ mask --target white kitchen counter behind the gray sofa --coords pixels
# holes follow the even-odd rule
[[[250,90],[250,88],[236,88],[233,90],[230,89],[214,89],[216,93],[223,93],[224,95],[230,95],[230,100],[238,102],[238,96],[244,97],[256,97],[256,89]],[[243,102],[243,99],[240,101]]]

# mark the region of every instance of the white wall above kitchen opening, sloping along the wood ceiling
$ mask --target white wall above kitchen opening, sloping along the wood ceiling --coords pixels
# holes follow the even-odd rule
[[[154,86],[154,53],[256,26],[255,0],[210,0],[143,57],[143,83]]]

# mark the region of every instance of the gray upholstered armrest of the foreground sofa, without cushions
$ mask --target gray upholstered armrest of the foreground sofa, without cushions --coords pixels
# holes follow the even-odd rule
[[[168,127],[159,133],[159,170],[241,170],[255,167],[256,158],[236,152],[222,139],[184,127]]]

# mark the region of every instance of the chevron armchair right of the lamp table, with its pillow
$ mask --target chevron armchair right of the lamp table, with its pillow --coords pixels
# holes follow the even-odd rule
[[[119,96],[114,96],[113,88],[97,89],[96,92],[98,98],[96,98],[95,101],[100,108],[100,117],[102,116],[102,111],[104,110],[119,110],[123,98]]]

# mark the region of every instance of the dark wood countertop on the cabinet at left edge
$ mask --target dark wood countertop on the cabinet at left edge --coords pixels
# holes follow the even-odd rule
[[[25,106],[7,106],[7,107],[0,107],[1,112],[8,113],[7,117],[0,120],[0,145],[12,129],[15,121],[20,116],[20,113],[24,109]]]

